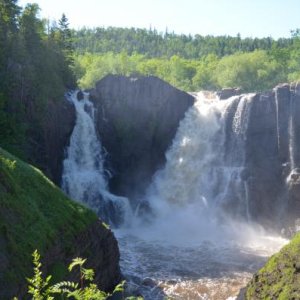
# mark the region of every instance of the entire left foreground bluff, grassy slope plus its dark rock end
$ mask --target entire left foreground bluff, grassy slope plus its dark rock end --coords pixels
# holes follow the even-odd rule
[[[23,297],[37,249],[47,274],[65,279],[77,256],[87,258],[99,286],[121,278],[119,250],[97,216],[71,201],[39,170],[0,148],[0,298]]]

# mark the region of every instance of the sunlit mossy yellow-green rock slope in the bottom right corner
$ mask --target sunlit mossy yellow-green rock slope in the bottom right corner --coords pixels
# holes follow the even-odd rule
[[[300,233],[253,276],[245,298],[300,299]]]

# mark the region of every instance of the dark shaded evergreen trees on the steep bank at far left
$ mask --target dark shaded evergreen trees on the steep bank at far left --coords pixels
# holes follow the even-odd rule
[[[0,0],[0,146],[20,156],[35,147],[48,102],[76,85],[72,65],[64,15],[50,25],[37,4]]]

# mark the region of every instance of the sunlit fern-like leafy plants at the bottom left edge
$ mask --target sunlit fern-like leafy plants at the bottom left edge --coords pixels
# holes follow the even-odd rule
[[[79,278],[80,282],[75,283],[72,281],[61,281],[51,285],[51,275],[43,278],[41,271],[42,264],[40,262],[40,255],[37,250],[32,254],[34,274],[32,278],[28,278],[28,294],[32,295],[33,300],[53,300],[57,296],[60,299],[76,299],[76,300],[105,300],[114,294],[123,293],[125,281],[118,284],[113,293],[106,293],[101,291],[94,281],[94,270],[86,269],[83,265],[86,259],[77,257],[73,259],[68,267],[70,272],[73,271],[75,267],[79,268]],[[16,299],[16,298],[15,298]],[[126,298],[127,300],[142,300],[138,297]]]

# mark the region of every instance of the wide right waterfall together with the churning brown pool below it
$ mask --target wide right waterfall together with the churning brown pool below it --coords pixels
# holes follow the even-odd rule
[[[245,139],[252,98],[200,93],[186,113],[146,194],[151,215],[116,232],[131,292],[234,297],[284,243],[251,224]]]

